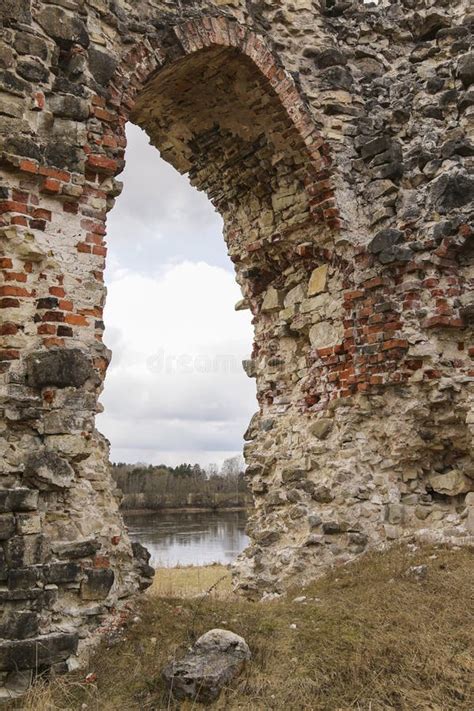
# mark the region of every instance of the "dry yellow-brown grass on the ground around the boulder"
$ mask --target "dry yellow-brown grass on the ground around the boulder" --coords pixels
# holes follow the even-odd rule
[[[472,711],[473,551],[394,548],[338,569],[285,599],[251,603],[144,596],[140,621],[91,659],[97,675],[34,689],[24,711],[191,711],[177,706],[160,670],[212,627],[243,635],[253,658],[215,709],[243,711]],[[424,579],[408,573],[426,564]],[[155,590],[178,595],[211,584],[221,570],[159,572]],[[171,577],[168,577],[171,576]],[[199,576],[199,580],[197,578]],[[194,579],[194,582],[193,582]],[[170,587],[171,586],[171,587]],[[294,602],[305,594],[304,603]],[[296,627],[295,627],[296,625]]]

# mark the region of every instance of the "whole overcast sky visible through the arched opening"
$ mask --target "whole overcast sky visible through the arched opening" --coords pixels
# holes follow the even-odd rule
[[[112,461],[218,464],[257,409],[241,361],[249,312],[206,196],[127,131],[124,190],[107,222],[105,342],[113,358],[97,426]]]

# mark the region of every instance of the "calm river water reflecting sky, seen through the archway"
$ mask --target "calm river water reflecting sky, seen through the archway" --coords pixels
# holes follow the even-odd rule
[[[124,519],[155,567],[232,563],[248,543],[245,511],[125,514]]]

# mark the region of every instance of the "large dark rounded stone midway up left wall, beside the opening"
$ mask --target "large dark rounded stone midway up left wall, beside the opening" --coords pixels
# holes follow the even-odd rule
[[[94,374],[89,358],[78,348],[30,353],[26,368],[27,384],[37,390],[52,386],[79,388]]]

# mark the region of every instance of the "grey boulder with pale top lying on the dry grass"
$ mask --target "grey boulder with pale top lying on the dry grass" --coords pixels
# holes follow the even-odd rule
[[[176,699],[211,703],[240,674],[250,657],[242,637],[214,629],[203,634],[183,659],[171,662],[163,676]]]

